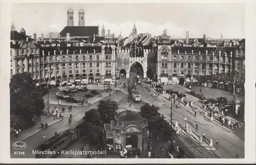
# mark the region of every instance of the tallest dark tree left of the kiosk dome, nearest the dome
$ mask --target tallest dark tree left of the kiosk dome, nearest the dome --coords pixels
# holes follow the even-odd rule
[[[110,123],[114,116],[117,115],[118,105],[116,101],[100,100],[98,113],[103,123]]]

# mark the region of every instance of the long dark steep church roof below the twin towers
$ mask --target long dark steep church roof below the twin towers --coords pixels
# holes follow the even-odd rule
[[[66,26],[59,34],[61,37],[66,37],[67,33],[70,37],[86,37],[98,34],[98,26]]]

